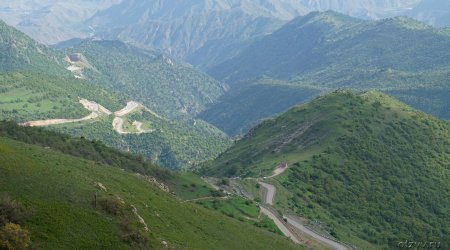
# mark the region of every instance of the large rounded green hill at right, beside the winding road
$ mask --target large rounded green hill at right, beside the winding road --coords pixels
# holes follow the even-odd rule
[[[445,248],[449,149],[448,122],[379,92],[337,91],[261,123],[204,172],[269,176],[287,162],[271,181],[284,213],[364,249],[404,239]]]

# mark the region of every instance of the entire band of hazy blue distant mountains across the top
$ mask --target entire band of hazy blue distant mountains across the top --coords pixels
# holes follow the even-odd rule
[[[0,3],[0,18],[47,44],[92,35],[120,38],[207,68],[311,11],[335,10],[365,19],[409,15],[446,25],[442,4],[445,0],[19,0]]]

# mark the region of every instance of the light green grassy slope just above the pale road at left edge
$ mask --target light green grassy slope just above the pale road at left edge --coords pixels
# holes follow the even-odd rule
[[[108,109],[119,109],[125,99],[85,80],[40,73],[0,75],[1,118],[19,122],[52,118],[81,118],[90,112],[80,98],[95,100]]]

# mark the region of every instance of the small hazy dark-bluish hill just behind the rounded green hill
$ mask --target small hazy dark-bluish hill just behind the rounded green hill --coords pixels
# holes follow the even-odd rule
[[[229,135],[243,135],[262,119],[310,100],[321,92],[316,88],[261,79],[254,84],[232,88],[198,118],[215,124]]]

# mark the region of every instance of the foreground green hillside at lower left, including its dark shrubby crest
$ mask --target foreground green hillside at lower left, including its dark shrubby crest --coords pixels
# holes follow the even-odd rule
[[[5,225],[14,223],[40,249],[294,248],[276,234],[162,191],[144,172],[159,173],[158,179],[170,173],[138,157],[11,124],[0,132],[1,240]],[[148,171],[120,169],[130,165]]]

